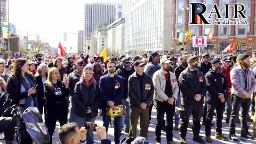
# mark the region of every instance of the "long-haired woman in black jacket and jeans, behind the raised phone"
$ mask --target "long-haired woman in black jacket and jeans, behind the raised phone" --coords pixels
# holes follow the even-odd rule
[[[100,88],[94,81],[91,67],[85,67],[80,81],[76,83],[75,93],[72,97],[73,106],[71,107],[70,122],[76,122],[78,127],[85,126],[85,122],[94,123],[98,116],[100,105]],[[87,144],[93,144],[93,131],[88,130]]]

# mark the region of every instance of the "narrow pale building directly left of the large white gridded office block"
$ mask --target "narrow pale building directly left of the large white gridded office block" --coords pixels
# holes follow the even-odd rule
[[[111,54],[125,54],[124,53],[124,18],[118,19],[107,26],[108,30],[108,45],[107,49]]]

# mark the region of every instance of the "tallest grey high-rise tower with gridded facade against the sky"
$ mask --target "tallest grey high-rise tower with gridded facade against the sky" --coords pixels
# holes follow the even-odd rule
[[[105,20],[107,25],[113,23],[119,15],[117,3],[86,3],[84,15],[84,39],[87,41],[94,34],[94,27],[101,20]],[[118,8],[118,10],[116,10]],[[116,15],[118,14],[118,15]],[[121,12],[122,14],[122,12]]]

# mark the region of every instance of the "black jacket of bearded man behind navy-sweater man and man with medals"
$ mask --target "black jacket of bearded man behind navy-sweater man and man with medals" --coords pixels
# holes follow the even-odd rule
[[[128,97],[128,78],[134,73],[134,69],[131,67],[131,71],[126,71],[123,67],[120,69],[116,70],[116,74],[118,76],[123,77],[124,81],[124,97],[123,99],[127,99]]]

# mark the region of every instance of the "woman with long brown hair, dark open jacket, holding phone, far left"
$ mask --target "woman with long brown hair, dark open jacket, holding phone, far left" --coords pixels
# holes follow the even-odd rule
[[[13,104],[19,107],[21,114],[30,106],[38,107],[34,86],[35,78],[29,73],[27,60],[17,59],[12,67],[12,75],[7,79],[6,91],[10,94]]]

